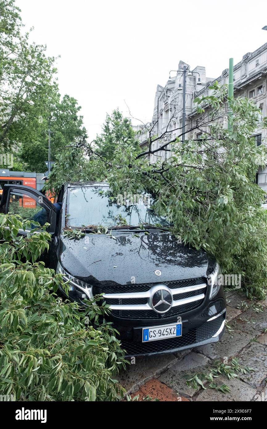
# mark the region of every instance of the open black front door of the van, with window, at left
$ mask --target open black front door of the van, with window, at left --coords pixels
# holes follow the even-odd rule
[[[25,199],[32,199],[35,204],[25,206],[22,204],[22,201]],[[48,222],[50,226],[47,232],[53,235],[56,231],[57,211],[55,206],[41,192],[29,186],[5,184],[1,198],[0,213],[20,215],[24,220],[39,222],[41,227]],[[28,232],[30,230],[19,230],[19,234]]]

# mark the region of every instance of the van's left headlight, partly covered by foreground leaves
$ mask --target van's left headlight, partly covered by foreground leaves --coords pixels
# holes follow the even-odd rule
[[[84,281],[79,280],[78,278],[73,277],[68,272],[66,272],[60,263],[57,264],[57,273],[62,274],[63,280],[69,280],[69,298],[73,299],[73,301],[80,301],[82,304],[86,305],[84,299],[92,299],[93,292],[90,284],[84,283]],[[61,288],[62,289],[62,288]],[[64,290],[63,290],[64,292]]]

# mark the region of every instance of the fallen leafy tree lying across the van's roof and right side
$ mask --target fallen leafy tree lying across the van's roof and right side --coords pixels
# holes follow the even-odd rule
[[[147,144],[136,151],[125,137],[106,159],[90,145],[69,145],[57,158],[47,188],[58,191],[64,181],[107,180],[113,195],[148,190],[156,214],[171,222],[171,232],[185,245],[204,248],[227,274],[242,276],[247,296],[263,299],[267,289],[267,214],[261,208],[265,193],[255,183],[265,166],[265,145],[252,134],[259,124],[259,109],[247,98],[227,99],[227,88],[216,82],[213,95],[196,99],[199,119],[168,142],[157,135],[155,123],[147,129]],[[225,109],[228,103],[229,110]],[[231,128],[224,128],[229,111]],[[175,109],[173,115],[175,115]],[[169,124],[171,123],[171,119]],[[263,118],[261,127],[267,126]],[[203,134],[194,139],[194,130]],[[150,163],[151,154],[168,151],[167,159]],[[86,157],[84,155],[87,155]]]

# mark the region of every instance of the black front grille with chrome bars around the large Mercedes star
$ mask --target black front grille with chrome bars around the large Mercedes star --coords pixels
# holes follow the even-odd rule
[[[151,288],[160,284],[167,286],[173,296],[170,310],[161,314],[156,313],[151,305]],[[112,293],[109,290],[112,290]],[[127,290],[127,292],[122,292],[122,290]],[[194,278],[143,285],[105,286],[102,292],[104,292],[104,299],[110,305],[112,314],[115,317],[123,319],[157,319],[159,317],[166,318],[180,315],[200,306],[205,298],[206,290],[206,278]]]

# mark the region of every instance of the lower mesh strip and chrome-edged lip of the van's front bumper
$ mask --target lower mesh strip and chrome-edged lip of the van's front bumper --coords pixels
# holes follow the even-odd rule
[[[225,328],[226,311],[217,317],[211,317],[202,325],[189,329],[181,337],[168,338],[159,341],[127,341],[122,340],[122,348],[126,350],[126,356],[153,356],[167,353],[175,353],[204,344],[215,343],[220,340]]]

